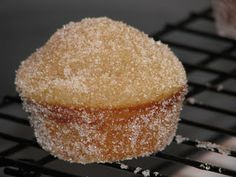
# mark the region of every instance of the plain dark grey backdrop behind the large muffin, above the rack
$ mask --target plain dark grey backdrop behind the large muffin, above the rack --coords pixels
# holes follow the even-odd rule
[[[69,21],[108,16],[151,34],[208,5],[207,0],[1,0],[0,97],[15,94],[20,61]]]

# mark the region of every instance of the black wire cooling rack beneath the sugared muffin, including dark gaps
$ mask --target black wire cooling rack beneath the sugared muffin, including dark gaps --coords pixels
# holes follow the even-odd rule
[[[211,29],[214,29],[214,19],[211,9],[207,9],[192,13],[174,25],[166,25],[162,31],[152,35],[155,40],[161,39],[170,45],[182,60],[189,76],[189,93],[177,132],[182,136],[177,135],[166,150],[133,161],[85,167],[60,161],[41,150],[31,130],[11,133],[1,123],[0,174],[21,177],[79,177],[91,176],[90,171],[94,169],[97,176],[172,176],[178,170],[190,166],[204,172],[206,176],[212,172],[236,176],[236,166],[226,168],[196,158],[209,151],[222,157],[236,157],[236,151],[232,149],[228,150],[216,144],[209,145],[209,142],[222,144],[224,140],[236,136],[236,89],[232,86],[236,83],[236,41],[220,37]],[[178,39],[180,34],[182,36]],[[171,35],[177,35],[178,40],[172,40]],[[216,41],[213,42],[216,46],[209,43],[205,47],[199,39]],[[9,111],[11,106],[18,111]],[[16,129],[17,126],[29,128],[26,115],[20,109],[21,101],[18,97],[5,96],[0,103],[0,120],[5,124],[14,124]],[[10,145],[5,147],[5,141],[10,142]],[[36,149],[34,154],[37,158],[31,158],[32,154],[27,152],[29,148]],[[26,151],[23,157],[18,156],[22,151]],[[59,168],[50,166],[56,161],[60,163]],[[68,165],[73,166],[77,172],[65,170],[69,168]]]

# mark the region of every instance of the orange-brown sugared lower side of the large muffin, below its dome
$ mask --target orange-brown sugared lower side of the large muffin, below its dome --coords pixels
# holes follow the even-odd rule
[[[169,144],[185,93],[182,88],[161,102],[83,114],[81,109],[33,103],[25,108],[39,144],[53,155],[79,163],[113,162],[146,156]]]

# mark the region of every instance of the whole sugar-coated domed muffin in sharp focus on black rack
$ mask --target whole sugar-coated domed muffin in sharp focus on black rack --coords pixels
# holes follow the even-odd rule
[[[21,63],[15,83],[42,148],[83,164],[163,150],[187,88],[166,45],[105,17],[63,26]]]

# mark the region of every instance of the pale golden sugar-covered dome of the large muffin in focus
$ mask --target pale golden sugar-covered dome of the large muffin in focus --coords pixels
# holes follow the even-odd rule
[[[23,99],[89,108],[125,108],[161,101],[186,86],[167,45],[106,17],[57,30],[17,70]]]

